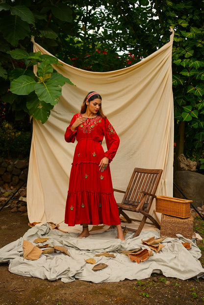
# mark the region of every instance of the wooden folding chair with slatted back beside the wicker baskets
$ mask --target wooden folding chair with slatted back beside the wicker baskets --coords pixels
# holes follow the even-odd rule
[[[147,218],[151,220],[151,224],[154,224],[156,228],[160,229],[159,223],[149,214],[149,211],[153,199],[156,197],[155,193],[161,179],[162,171],[162,169],[135,167],[127,190],[113,189],[114,191],[125,193],[122,203],[118,203],[119,214],[122,214],[128,223],[131,223],[132,220],[140,222],[137,230],[127,227],[127,230],[135,232],[134,237],[140,234]],[[142,220],[130,218],[124,210],[141,213],[143,218]]]

